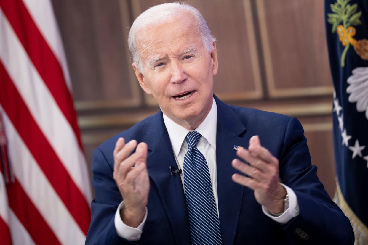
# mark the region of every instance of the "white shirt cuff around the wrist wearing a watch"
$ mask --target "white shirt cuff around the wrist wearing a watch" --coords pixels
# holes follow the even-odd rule
[[[284,184],[282,185],[283,187],[285,187],[285,190],[287,194],[289,195],[289,208],[284,210],[283,214],[278,217],[270,215],[268,210],[263,206],[262,206],[262,211],[265,215],[275,220],[276,222],[280,224],[286,224],[287,222],[289,222],[289,220],[293,219],[295,216],[299,214],[299,204],[298,204],[298,199],[297,199],[297,196],[295,195],[295,192],[291,190],[290,187],[287,187]]]

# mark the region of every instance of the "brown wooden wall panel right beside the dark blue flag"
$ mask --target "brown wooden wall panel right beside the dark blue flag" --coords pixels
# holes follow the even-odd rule
[[[323,4],[256,0],[270,97],[332,94]]]

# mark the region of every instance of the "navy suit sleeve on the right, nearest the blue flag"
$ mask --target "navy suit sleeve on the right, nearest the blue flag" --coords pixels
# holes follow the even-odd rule
[[[296,118],[287,123],[280,155],[280,178],[296,194],[299,215],[283,225],[296,244],[354,244],[350,221],[330,199],[317,177],[304,130]]]

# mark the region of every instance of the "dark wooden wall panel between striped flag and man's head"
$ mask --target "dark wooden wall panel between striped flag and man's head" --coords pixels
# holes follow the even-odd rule
[[[53,1],[77,109],[131,107],[141,93],[127,45],[127,1]]]

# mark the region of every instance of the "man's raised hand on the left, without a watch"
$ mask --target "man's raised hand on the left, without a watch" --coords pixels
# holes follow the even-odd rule
[[[124,200],[120,216],[124,224],[130,227],[138,227],[142,223],[149,192],[147,144],[139,143],[131,154],[136,146],[136,140],[125,144],[124,138],[119,138],[114,149],[113,177]]]

